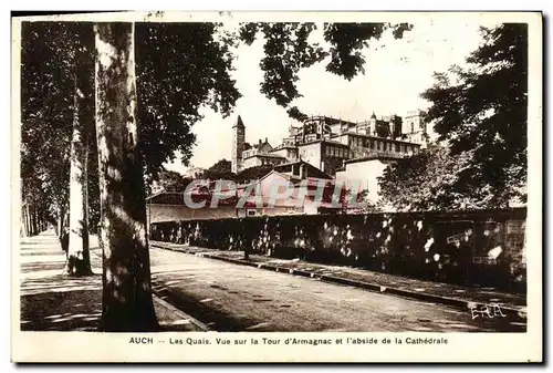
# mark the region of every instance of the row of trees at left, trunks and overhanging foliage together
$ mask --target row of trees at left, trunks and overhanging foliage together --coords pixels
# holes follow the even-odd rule
[[[407,24],[325,24],[330,49],[309,44],[310,23],[29,22],[22,28],[22,198],[67,226],[66,272],[90,274],[88,232],[100,226],[104,331],[158,329],[152,300],[145,185],[181,154],[209,106],[228,115],[240,93],[231,48],[265,40],[262,92],[286,107],[300,69],[326,58],[352,79],[361,49]],[[342,35],[342,37],[341,37]]]

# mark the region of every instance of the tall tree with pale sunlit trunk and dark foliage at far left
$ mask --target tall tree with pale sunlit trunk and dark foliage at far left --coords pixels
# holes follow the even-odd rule
[[[69,222],[65,271],[71,274],[91,273],[87,229],[83,230],[87,190],[82,177],[86,176],[82,148],[94,129],[93,64],[86,63],[90,51],[84,50],[86,41],[93,41],[92,30],[86,33],[90,29],[81,22],[25,22],[22,28],[23,188],[32,177],[40,180],[46,196],[40,201],[58,219],[60,238]],[[67,214],[70,195],[72,214]],[[72,221],[66,221],[67,216]]]

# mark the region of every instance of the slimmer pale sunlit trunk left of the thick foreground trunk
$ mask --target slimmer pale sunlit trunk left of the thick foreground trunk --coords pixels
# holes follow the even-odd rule
[[[83,74],[86,74],[86,72],[83,72]],[[90,276],[93,272],[88,252],[86,146],[83,144],[82,136],[84,128],[84,123],[81,120],[83,90],[80,86],[80,82],[82,81],[80,74],[75,74],[74,81],[73,136],[71,138],[70,170],[70,237],[64,273],[70,276]]]

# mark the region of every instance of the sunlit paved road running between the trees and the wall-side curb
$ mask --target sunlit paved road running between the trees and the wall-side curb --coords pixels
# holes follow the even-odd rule
[[[150,255],[155,292],[218,331],[481,332],[504,328],[472,320],[469,310],[163,249],[153,249]]]

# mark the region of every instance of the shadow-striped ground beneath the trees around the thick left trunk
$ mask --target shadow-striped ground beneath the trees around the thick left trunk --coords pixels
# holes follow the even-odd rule
[[[102,317],[101,258],[91,252],[94,276],[62,276],[65,253],[53,231],[22,238],[19,255],[21,330],[96,331]],[[161,331],[201,331],[192,318],[164,300],[154,297],[154,304]]]

